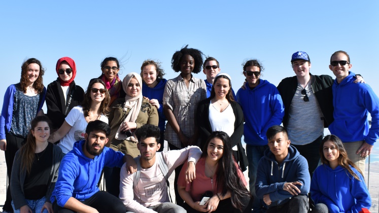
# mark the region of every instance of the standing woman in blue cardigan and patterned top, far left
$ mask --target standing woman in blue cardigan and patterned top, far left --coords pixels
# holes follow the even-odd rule
[[[27,59],[21,66],[21,79],[7,88],[0,116],[0,149],[5,151],[8,182],[11,180],[13,159],[26,142],[30,121],[44,115],[46,88],[42,76],[45,69],[36,58]],[[10,183],[3,210],[13,211]]]

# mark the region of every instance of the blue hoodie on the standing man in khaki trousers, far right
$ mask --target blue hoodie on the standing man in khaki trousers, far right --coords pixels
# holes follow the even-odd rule
[[[334,121],[329,125],[329,131],[344,143],[365,140],[373,145],[379,138],[379,99],[367,84],[355,84],[354,77],[355,74],[349,72],[341,83],[334,80]],[[371,114],[371,128],[368,113]]]

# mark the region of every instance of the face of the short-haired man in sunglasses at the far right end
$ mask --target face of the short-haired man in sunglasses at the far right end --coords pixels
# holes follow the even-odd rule
[[[333,55],[331,61],[331,64],[336,63],[336,65],[329,65],[329,69],[332,70],[338,82],[342,81],[344,78],[349,76],[349,70],[352,68],[352,65],[350,64],[347,55],[343,53],[338,53],[336,55]],[[341,65],[341,63],[345,63],[343,61],[347,61],[345,65]]]

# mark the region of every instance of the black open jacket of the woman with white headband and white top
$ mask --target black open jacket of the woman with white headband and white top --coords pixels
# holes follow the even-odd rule
[[[204,146],[206,140],[212,133],[211,123],[209,122],[210,101],[210,98],[206,98],[200,101],[196,111],[196,123],[199,128],[199,135],[201,141],[200,148]],[[237,145],[238,151],[233,151],[233,155],[237,162],[239,162],[241,170],[245,171],[249,163],[248,158],[246,157],[245,149],[241,144],[241,138],[244,134],[244,113],[237,102],[232,101],[230,102],[230,104],[235,116],[234,132],[230,136],[231,147]]]

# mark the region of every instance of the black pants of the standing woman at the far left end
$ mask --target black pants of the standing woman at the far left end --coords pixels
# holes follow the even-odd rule
[[[5,200],[3,210],[13,212],[11,205],[12,196],[11,196],[11,174],[13,160],[15,158],[17,150],[19,150],[22,145],[26,143],[26,138],[12,135],[6,133],[5,135],[7,140],[7,150],[5,151],[5,162],[7,163],[7,172],[8,172],[8,189],[7,189],[7,199]]]

